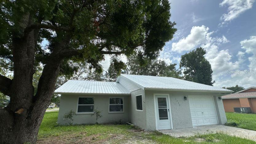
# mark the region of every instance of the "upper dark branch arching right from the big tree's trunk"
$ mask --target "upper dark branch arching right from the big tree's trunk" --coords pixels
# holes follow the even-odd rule
[[[61,27],[61,26],[56,26],[56,25],[47,25],[47,24],[33,24],[30,25],[25,29],[25,33],[29,33],[33,29],[52,29],[52,30],[63,30],[63,31],[71,31],[69,28]]]

